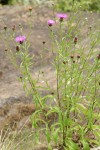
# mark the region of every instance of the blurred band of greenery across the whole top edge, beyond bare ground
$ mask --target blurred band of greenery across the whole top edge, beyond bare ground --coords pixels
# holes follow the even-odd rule
[[[57,10],[71,11],[72,6],[77,9],[88,11],[100,11],[100,0],[0,0],[1,5],[43,5],[48,2],[55,3]]]

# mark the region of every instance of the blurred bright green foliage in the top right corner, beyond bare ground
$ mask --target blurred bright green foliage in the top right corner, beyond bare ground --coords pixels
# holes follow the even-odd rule
[[[56,8],[60,11],[72,11],[73,8],[84,11],[100,11],[100,0],[57,0]]]

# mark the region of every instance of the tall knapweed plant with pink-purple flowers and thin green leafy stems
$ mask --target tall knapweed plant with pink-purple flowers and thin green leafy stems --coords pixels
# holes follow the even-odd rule
[[[40,75],[36,79],[31,74],[30,43],[23,32],[17,37],[12,35],[16,53],[6,51],[21,73],[24,90],[36,105],[30,118],[36,141],[41,142],[42,133],[48,150],[89,150],[100,144],[100,54],[96,51],[100,37],[99,32],[92,32],[87,19],[83,22],[75,17],[76,13],[59,13],[47,20],[56,79],[55,89],[49,94],[41,94],[41,90],[52,89],[48,81],[44,79],[45,86],[39,85]],[[83,36],[82,25],[86,28]]]

